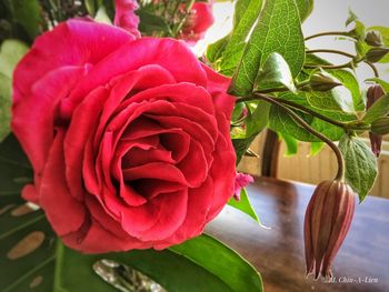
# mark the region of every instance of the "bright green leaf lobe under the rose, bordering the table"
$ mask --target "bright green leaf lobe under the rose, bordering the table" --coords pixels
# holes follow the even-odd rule
[[[261,276],[256,269],[238,253],[209,235],[203,234],[189,240],[170,248],[170,251],[200,264],[232,291],[263,291]],[[233,269],[226,269],[227,266]]]

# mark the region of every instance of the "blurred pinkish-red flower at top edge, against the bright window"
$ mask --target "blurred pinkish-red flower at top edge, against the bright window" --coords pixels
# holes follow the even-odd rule
[[[212,2],[197,2],[183,24],[180,38],[189,43],[196,43],[203,38],[213,21]]]

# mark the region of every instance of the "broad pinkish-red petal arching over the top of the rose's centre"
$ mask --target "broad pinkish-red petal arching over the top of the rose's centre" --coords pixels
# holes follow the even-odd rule
[[[207,74],[196,56],[186,44],[172,39],[141,38],[117,46],[117,50],[107,54],[90,70],[88,80],[81,80],[72,92],[72,100],[78,103],[92,89],[108,83],[112,78],[141,67],[157,64],[162,67],[177,82],[190,82],[207,87]],[[184,66],[182,66],[184,64]],[[187,93],[189,93],[187,91]]]

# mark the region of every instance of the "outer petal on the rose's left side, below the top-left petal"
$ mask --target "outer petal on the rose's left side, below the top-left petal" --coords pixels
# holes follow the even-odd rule
[[[23,68],[24,63],[22,62],[20,67]],[[20,67],[18,70],[21,70]],[[82,67],[62,67],[36,82],[27,95],[20,97],[20,102],[13,102],[12,131],[32,163],[36,184],[40,180],[53,142],[56,104],[69,94],[71,88],[83,74]],[[14,78],[19,78],[17,73]],[[22,81],[16,80],[17,84],[20,82]]]

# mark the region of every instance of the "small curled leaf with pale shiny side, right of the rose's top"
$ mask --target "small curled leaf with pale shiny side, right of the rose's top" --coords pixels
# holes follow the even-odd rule
[[[283,87],[292,92],[296,91],[293,78],[287,61],[281,54],[272,52],[259,70],[253,89],[260,91]]]

